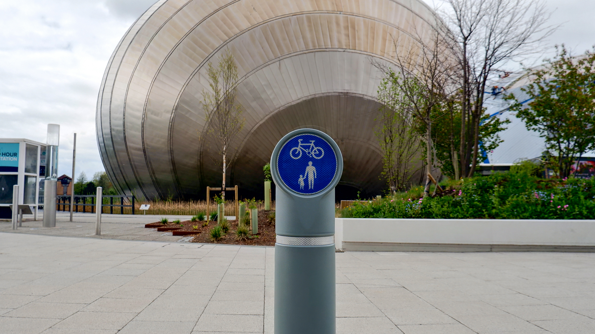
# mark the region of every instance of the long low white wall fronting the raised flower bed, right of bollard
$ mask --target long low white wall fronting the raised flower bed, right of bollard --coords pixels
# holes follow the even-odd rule
[[[595,246],[595,220],[336,218],[335,244]]]

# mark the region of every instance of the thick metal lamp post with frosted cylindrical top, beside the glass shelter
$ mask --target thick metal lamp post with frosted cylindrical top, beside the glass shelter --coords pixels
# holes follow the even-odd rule
[[[56,227],[56,193],[58,187],[58,146],[60,125],[48,124],[47,158],[43,185],[43,227]]]

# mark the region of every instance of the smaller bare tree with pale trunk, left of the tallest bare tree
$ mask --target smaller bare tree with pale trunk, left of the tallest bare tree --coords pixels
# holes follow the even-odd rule
[[[457,62],[444,31],[446,29],[418,33],[410,37],[414,39],[413,43],[399,39],[394,42],[396,56],[393,60],[397,74],[392,84],[403,96],[403,112],[415,118],[424,132],[427,168],[424,197],[430,195],[431,172],[437,163],[433,159],[436,155],[433,155],[432,125],[448,113],[444,105],[457,96],[459,90],[453,80]],[[374,65],[385,77],[390,77],[390,68],[377,62]]]

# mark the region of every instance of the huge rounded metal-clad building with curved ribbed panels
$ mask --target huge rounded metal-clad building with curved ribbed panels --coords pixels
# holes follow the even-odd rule
[[[374,96],[394,40],[436,22],[420,0],[159,0],[130,27],[105,70],[96,113],[105,171],[120,193],[203,198],[221,186],[201,105],[206,68],[236,59],[245,127],[227,184],[261,194],[277,141],[315,128],[339,144],[340,184],[376,193],[381,155]]]

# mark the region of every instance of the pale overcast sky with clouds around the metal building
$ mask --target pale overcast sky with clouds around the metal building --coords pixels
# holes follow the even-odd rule
[[[75,132],[77,176],[103,171],[95,135],[101,78],[123,34],[154,2],[0,0],[0,138],[45,142],[47,124],[60,124],[59,175],[71,174]],[[563,24],[550,45],[582,53],[595,44],[595,1],[547,5],[551,24]]]

